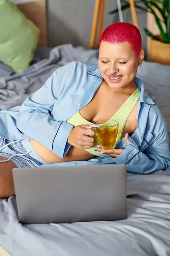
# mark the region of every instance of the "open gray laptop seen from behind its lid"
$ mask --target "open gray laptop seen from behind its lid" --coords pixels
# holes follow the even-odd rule
[[[126,166],[14,168],[23,224],[113,221],[126,218]]]

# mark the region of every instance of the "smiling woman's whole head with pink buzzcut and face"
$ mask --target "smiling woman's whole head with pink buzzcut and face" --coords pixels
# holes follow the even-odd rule
[[[114,23],[114,27],[111,25],[105,29],[99,42],[98,65],[108,84],[116,84],[125,87],[124,89],[136,88],[133,78],[143,59],[144,50],[139,29],[123,22]]]

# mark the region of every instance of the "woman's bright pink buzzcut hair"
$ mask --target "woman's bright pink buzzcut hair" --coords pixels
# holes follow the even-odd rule
[[[100,38],[99,49],[102,41],[111,44],[127,41],[137,56],[142,50],[142,37],[139,29],[127,22],[116,22],[108,26]]]

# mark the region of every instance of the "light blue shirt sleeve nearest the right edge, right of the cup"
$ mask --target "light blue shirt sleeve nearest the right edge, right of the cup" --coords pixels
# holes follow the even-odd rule
[[[167,126],[163,116],[159,113],[156,122],[151,125],[154,140],[141,152],[138,145],[130,138],[130,143],[122,154],[114,159],[116,164],[126,164],[127,171],[134,174],[148,174],[158,170],[170,168],[169,141]]]

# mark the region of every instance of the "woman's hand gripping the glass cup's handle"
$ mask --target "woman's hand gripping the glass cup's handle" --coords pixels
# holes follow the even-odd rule
[[[75,148],[91,148],[94,144],[94,138],[89,136],[94,136],[94,134],[95,132],[89,125],[77,125],[68,135],[67,142]]]

